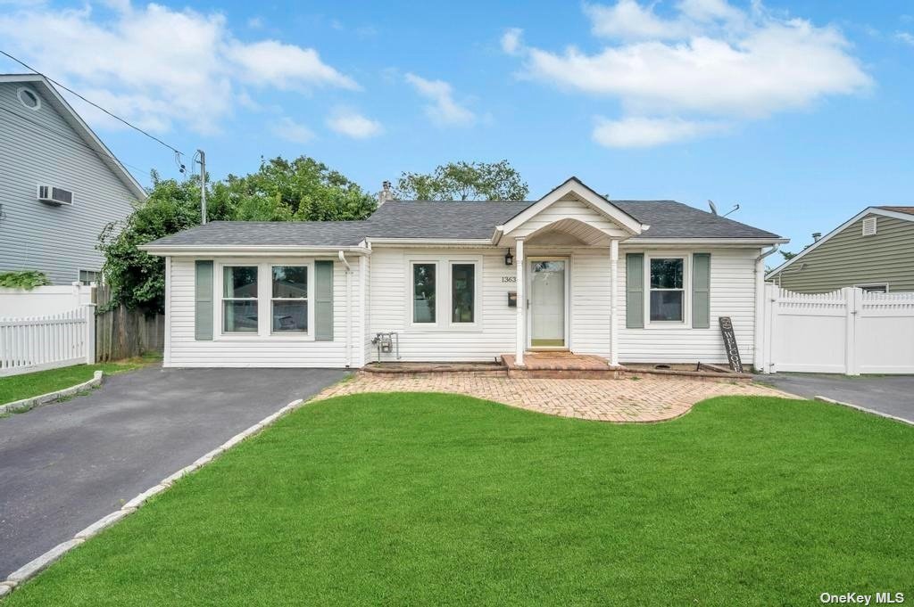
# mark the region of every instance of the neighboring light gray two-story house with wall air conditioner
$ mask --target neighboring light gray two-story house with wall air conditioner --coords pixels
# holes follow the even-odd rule
[[[95,279],[102,227],[145,197],[48,79],[0,75],[0,271]]]

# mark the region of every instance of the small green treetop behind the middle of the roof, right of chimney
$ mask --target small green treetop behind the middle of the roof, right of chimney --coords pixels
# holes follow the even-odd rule
[[[402,173],[394,194],[415,200],[524,200],[529,188],[506,160],[448,162],[432,173]]]

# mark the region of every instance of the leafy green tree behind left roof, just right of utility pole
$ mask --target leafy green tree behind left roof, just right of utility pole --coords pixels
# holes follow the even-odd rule
[[[244,177],[213,184],[213,204],[236,221],[343,221],[374,213],[377,200],[343,173],[301,156],[273,158]]]

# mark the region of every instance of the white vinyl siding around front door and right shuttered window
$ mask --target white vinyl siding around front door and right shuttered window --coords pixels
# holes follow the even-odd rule
[[[725,362],[726,353],[717,324],[719,316],[733,319],[742,360],[753,357],[755,328],[755,257],[752,249],[677,248],[711,254],[711,319],[708,329],[691,329],[685,323],[663,324],[645,329],[625,329],[626,252],[644,252],[623,247],[619,262],[619,359],[627,362]],[[504,250],[480,250],[482,267],[477,267],[477,288],[482,298],[480,330],[455,331],[415,329],[408,326],[409,259],[440,259],[440,267],[453,256],[472,250],[408,250],[376,247],[371,256],[370,329],[368,339],[379,331],[398,331],[402,361],[493,361],[515,349],[516,309],[507,305],[507,292],[516,285],[502,282],[515,276],[514,266],[505,266]],[[543,247],[531,248],[526,256],[547,255]],[[580,247],[569,256],[569,349],[581,354],[610,355],[610,253],[608,248]],[[442,278],[440,278],[441,280]],[[685,297],[689,298],[686,291]],[[523,305],[523,302],[518,302]],[[368,361],[377,350],[367,345]],[[395,361],[393,353],[383,361]]]

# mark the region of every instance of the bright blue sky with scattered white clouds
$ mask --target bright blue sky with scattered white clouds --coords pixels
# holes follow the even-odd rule
[[[0,0],[0,47],[210,174],[308,154],[369,191],[455,160],[578,175],[792,238],[914,204],[914,5],[44,4]],[[0,61],[0,71],[21,71]],[[141,183],[170,152],[74,107]],[[185,160],[189,165],[188,159]]]

